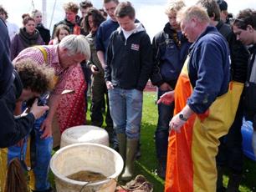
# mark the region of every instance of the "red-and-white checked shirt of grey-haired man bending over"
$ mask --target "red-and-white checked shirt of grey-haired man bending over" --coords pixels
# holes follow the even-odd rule
[[[59,63],[59,55],[58,55],[58,45],[54,46],[43,46],[47,52],[47,65],[51,68],[54,68],[55,75],[58,76],[58,83],[56,84],[53,93],[54,94],[60,94],[65,88],[66,80],[68,79],[70,75],[70,69],[69,68],[63,68],[61,67]],[[26,48],[21,53],[18,54],[16,58],[13,59],[13,63],[18,62],[18,60],[23,58],[30,58],[33,61],[35,61],[38,64],[45,63],[44,60],[44,53],[42,53],[38,48]]]

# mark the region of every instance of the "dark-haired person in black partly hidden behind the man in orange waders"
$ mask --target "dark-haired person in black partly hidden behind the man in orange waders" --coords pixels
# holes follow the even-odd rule
[[[221,4],[218,4],[221,3]],[[247,48],[239,42],[230,25],[223,23],[221,20],[221,10],[224,5],[228,4],[223,0],[198,0],[197,4],[202,5],[207,9],[210,18],[210,24],[218,29],[218,32],[223,35],[228,41],[230,50],[230,74],[231,80],[244,83],[246,80],[247,66],[249,53]],[[223,12],[223,11],[222,11]],[[227,11],[226,11],[227,12]],[[227,191],[238,191],[239,183],[243,174],[243,148],[242,148],[242,133],[241,127],[243,124],[243,95],[240,97],[238,110],[232,126],[228,130],[228,134],[220,138],[221,144],[218,146],[218,155],[216,157],[218,179],[217,191],[225,190],[223,187],[224,170],[228,168],[229,180]]]

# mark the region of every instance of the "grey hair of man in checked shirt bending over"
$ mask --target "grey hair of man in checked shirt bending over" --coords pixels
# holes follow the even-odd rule
[[[83,54],[86,59],[90,58],[90,44],[84,35],[68,35],[60,41],[59,47],[67,48],[69,55],[80,53]]]

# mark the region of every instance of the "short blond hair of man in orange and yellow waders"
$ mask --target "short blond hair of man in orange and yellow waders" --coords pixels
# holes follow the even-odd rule
[[[209,23],[210,18],[207,14],[206,8],[202,8],[199,5],[193,5],[191,7],[184,7],[177,13],[177,22],[189,21],[191,18],[197,18],[199,23]]]

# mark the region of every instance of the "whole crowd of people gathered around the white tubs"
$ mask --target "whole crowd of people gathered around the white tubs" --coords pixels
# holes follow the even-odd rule
[[[88,124],[87,111],[98,127],[106,112],[104,129],[125,162],[120,179],[130,181],[149,79],[157,87],[154,139],[165,191],[238,191],[243,117],[253,122],[256,154],[256,10],[230,18],[224,0],[169,0],[168,22],[151,42],[130,2],[104,0],[97,9],[85,0],[63,8],[50,36],[40,11],[23,14],[18,28],[0,6],[0,192],[8,164],[25,154],[30,189],[54,191],[54,119],[63,133]]]

